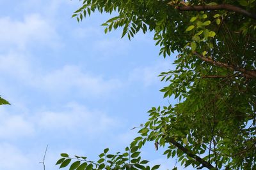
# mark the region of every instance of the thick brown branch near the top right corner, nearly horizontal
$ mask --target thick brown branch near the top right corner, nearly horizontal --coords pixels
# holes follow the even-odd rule
[[[212,11],[212,10],[227,10],[234,11],[236,13],[241,13],[246,15],[247,17],[253,18],[256,20],[256,14],[251,13],[249,11],[244,10],[238,6],[234,6],[231,4],[217,4],[217,5],[195,5],[195,6],[178,6],[178,10],[180,11]]]

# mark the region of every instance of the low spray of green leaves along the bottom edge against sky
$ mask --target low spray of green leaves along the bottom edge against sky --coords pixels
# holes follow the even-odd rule
[[[82,169],[146,169],[150,170],[150,166],[147,166],[148,160],[141,160],[138,146],[131,146],[125,148],[124,153],[108,154],[109,148],[104,149],[103,153],[100,153],[99,160],[93,162],[86,160],[87,157],[70,158],[67,153],[61,153],[61,159],[56,162],[56,165],[60,164],[60,168],[68,166],[71,160],[76,160],[70,165],[70,170],[82,170]],[[153,166],[151,170],[158,169],[160,165]]]

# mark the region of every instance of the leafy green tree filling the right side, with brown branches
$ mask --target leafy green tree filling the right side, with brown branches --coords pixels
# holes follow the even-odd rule
[[[159,55],[179,53],[176,69],[159,75],[169,82],[164,97],[179,103],[149,110],[127,152],[106,149],[97,162],[76,157],[70,169],[150,169],[138,152],[147,141],[168,145],[164,154],[185,166],[256,169],[255,0],[84,0],[72,17],[81,21],[95,10],[118,12],[102,24],[105,32],[123,27],[131,39],[154,31]],[[71,159],[61,156],[57,164],[65,167]]]

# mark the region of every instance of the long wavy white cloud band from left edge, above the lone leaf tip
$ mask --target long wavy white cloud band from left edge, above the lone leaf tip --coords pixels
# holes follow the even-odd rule
[[[102,76],[83,72],[77,66],[67,65],[53,71],[38,71],[27,58],[13,52],[0,55],[0,74],[8,75],[8,78],[28,87],[60,96],[77,92],[84,96],[99,97],[122,86],[119,80],[106,80]]]

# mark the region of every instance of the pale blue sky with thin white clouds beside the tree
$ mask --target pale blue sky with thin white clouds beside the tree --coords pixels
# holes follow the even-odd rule
[[[157,75],[174,68],[175,55],[158,56],[152,32],[131,41],[122,30],[104,34],[106,13],[77,23],[79,6],[0,0],[0,95],[12,104],[0,107],[0,170],[43,169],[47,145],[47,170],[58,169],[60,153],[97,160],[104,148],[123,152],[147,111],[168,105]],[[148,143],[142,156],[172,169],[163,151]]]

